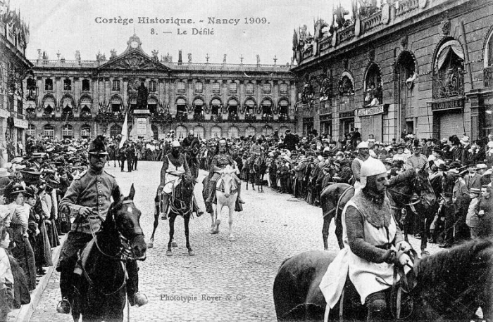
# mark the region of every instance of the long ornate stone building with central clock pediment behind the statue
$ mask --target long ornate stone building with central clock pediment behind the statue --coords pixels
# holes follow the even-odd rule
[[[295,85],[289,65],[177,62],[149,56],[137,35],[106,59],[32,60],[39,95],[27,101],[29,134],[85,138],[120,134],[128,113],[132,136],[178,138],[194,129],[201,139],[294,129]],[[141,122],[142,121],[142,122]],[[151,131],[149,131],[149,129]]]

